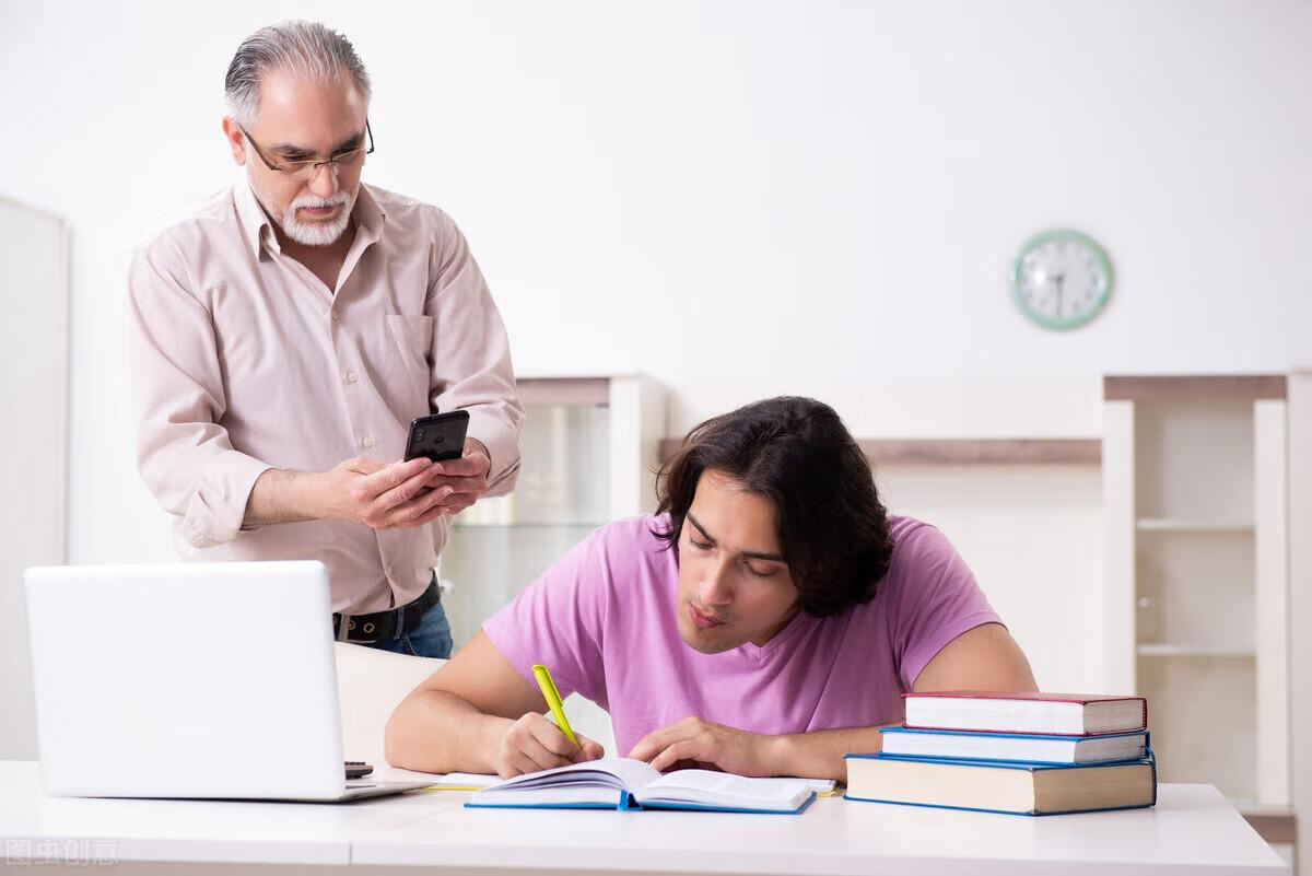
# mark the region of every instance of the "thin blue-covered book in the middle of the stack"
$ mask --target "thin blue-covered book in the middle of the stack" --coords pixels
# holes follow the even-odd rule
[[[1148,730],[1105,736],[981,733],[886,727],[880,750],[897,757],[966,758],[1019,763],[1111,763],[1148,757]]]

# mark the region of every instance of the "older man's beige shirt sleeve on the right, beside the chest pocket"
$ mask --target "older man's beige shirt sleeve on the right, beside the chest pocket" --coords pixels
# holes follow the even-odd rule
[[[446,214],[438,218],[436,279],[425,302],[433,317],[430,401],[434,410],[468,412],[468,437],[492,456],[487,494],[501,496],[520,472],[523,428],[510,344],[464,235]]]

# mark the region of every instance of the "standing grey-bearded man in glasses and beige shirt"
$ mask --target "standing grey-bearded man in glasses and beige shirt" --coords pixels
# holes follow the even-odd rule
[[[501,317],[446,214],[361,182],[370,83],[345,37],[264,28],[226,90],[245,180],[131,268],[142,476],[184,556],[323,560],[340,639],[446,657],[450,517],[518,471]],[[412,418],[454,409],[462,458],[387,462]]]

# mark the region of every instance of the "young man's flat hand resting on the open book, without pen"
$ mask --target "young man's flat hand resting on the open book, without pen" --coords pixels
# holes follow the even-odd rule
[[[697,766],[739,775],[778,775],[775,747],[782,737],[748,733],[699,717],[652,730],[628,757],[647,761],[661,772]]]

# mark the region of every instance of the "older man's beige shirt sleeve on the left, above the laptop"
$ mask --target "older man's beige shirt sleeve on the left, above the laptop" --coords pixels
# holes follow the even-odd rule
[[[232,448],[214,325],[160,237],[129,274],[127,342],[142,479],[194,548],[231,542],[269,464]]]

